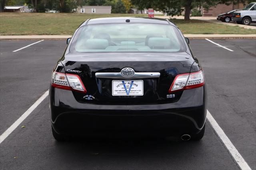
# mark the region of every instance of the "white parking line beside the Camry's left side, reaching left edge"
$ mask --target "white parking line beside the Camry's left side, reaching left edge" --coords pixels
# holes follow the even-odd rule
[[[7,138],[9,134],[11,134],[13,130],[15,130],[20,123],[22,123],[22,121],[32,113],[32,111],[34,111],[34,109],[36,109],[36,107],[48,96],[48,93],[49,90],[47,90],[25,113],[23,113],[23,115],[21,115],[19,119],[17,119],[17,121],[15,121],[7,130],[5,130],[5,132],[3,132],[3,134],[1,134],[0,143],[2,143],[2,141],[4,141],[4,139]]]

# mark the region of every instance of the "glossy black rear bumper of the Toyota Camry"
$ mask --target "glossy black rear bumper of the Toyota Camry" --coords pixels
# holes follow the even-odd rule
[[[50,87],[52,127],[60,134],[110,136],[194,134],[206,120],[206,87],[185,90],[178,102],[159,105],[78,103],[72,91]]]

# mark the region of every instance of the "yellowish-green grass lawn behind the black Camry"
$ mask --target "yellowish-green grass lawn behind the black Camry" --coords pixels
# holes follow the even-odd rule
[[[147,17],[145,14],[0,13],[0,35],[72,35],[88,18]],[[256,30],[201,20],[172,20],[183,34],[256,34]]]

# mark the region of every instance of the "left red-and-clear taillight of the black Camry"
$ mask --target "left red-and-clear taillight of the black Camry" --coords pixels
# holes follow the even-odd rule
[[[74,90],[86,93],[86,88],[80,77],[75,74],[52,73],[52,86],[59,89]]]

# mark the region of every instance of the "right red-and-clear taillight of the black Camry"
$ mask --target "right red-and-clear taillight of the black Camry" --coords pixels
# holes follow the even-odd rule
[[[204,74],[202,70],[194,73],[184,73],[176,75],[172,85],[169,89],[169,93],[193,89],[204,85]]]

